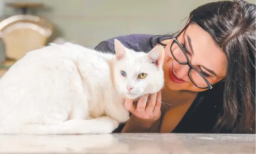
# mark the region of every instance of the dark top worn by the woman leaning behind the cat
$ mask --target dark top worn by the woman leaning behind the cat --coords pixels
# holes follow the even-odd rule
[[[127,48],[131,48],[137,52],[143,51],[147,53],[158,41],[171,38],[171,35],[160,37],[145,34],[132,34],[114,38],[123,43]],[[100,42],[95,49],[115,53],[114,38]],[[213,128],[223,106],[223,92],[220,91],[223,91],[223,84],[221,83],[214,85],[211,90],[199,92],[172,133],[216,133]],[[124,125],[125,124],[120,125],[114,132],[121,132]],[[221,130],[219,133],[229,133],[229,131]]]

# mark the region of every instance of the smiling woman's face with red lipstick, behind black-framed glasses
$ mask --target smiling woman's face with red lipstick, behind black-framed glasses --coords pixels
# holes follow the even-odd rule
[[[203,76],[214,84],[222,80],[226,75],[227,59],[222,51],[215,43],[213,38],[196,24],[191,24],[187,29],[177,37],[178,42],[184,48],[191,64],[203,74]],[[204,91],[207,89],[197,88],[189,78],[189,66],[187,64],[179,64],[172,56],[170,47],[172,40],[165,47],[164,72],[165,87],[170,90],[190,90]],[[172,52],[175,57],[182,57],[182,51],[179,46],[174,43]],[[183,54],[184,56],[184,54]],[[202,77],[196,71],[191,72],[193,81],[199,85],[205,85]]]

